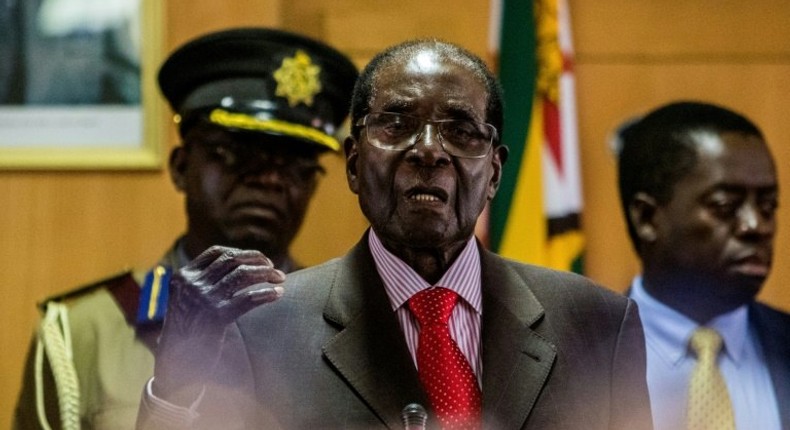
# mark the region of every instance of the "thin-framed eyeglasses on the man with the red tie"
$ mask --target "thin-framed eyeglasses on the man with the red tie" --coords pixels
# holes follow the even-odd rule
[[[388,151],[406,151],[417,143],[431,124],[439,132],[439,142],[448,154],[462,158],[483,158],[496,138],[493,125],[468,119],[429,120],[416,116],[394,113],[369,113],[357,121],[365,127],[367,141]]]

